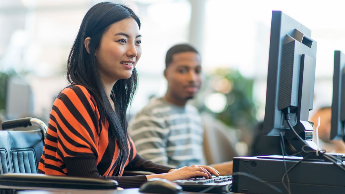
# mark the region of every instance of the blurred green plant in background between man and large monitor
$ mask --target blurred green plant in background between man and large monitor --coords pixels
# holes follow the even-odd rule
[[[217,68],[214,72],[205,75],[203,88],[198,98],[203,98],[199,105],[205,104],[205,97],[213,93],[223,94],[226,98],[225,107],[220,112],[214,112],[203,106],[200,111],[208,111],[215,118],[232,128],[252,129],[256,120],[256,105],[253,100],[254,80],[246,78],[238,70],[231,68]],[[220,103],[215,101],[214,103]]]

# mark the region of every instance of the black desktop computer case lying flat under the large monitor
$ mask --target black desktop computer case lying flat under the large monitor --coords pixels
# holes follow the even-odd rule
[[[289,170],[302,157],[285,156]],[[340,163],[338,163],[340,164]],[[282,156],[235,157],[232,192],[252,194],[288,194],[287,177]],[[345,193],[345,171],[332,162],[307,160],[288,172],[292,194]]]

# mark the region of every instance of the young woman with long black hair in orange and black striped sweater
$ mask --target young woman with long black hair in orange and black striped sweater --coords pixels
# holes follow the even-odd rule
[[[218,176],[208,166],[172,169],[137,154],[128,135],[126,110],[137,85],[139,29],[139,18],[121,4],[98,3],[86,13],[67,62],[70,85],[60,92],[50,113],[40,173],[109,176],[124,188],[139,187],[155,177],[173,181]],[[126,177],[125,169],[157,174]]]

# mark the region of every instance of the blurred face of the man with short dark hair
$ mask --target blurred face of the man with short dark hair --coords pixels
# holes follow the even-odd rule
[[[167,95],[176,104],[183,104],[193,98],[200,89],[201,58],[195,52],[181,52],[172,56],[164,71],[168,80]]]

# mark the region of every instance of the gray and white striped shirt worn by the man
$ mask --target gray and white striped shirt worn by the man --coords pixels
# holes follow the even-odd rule
[[[152,99],[129,122],[138,154],[152,162],[179,168],[205,164],[203,125],[198,110]]]

